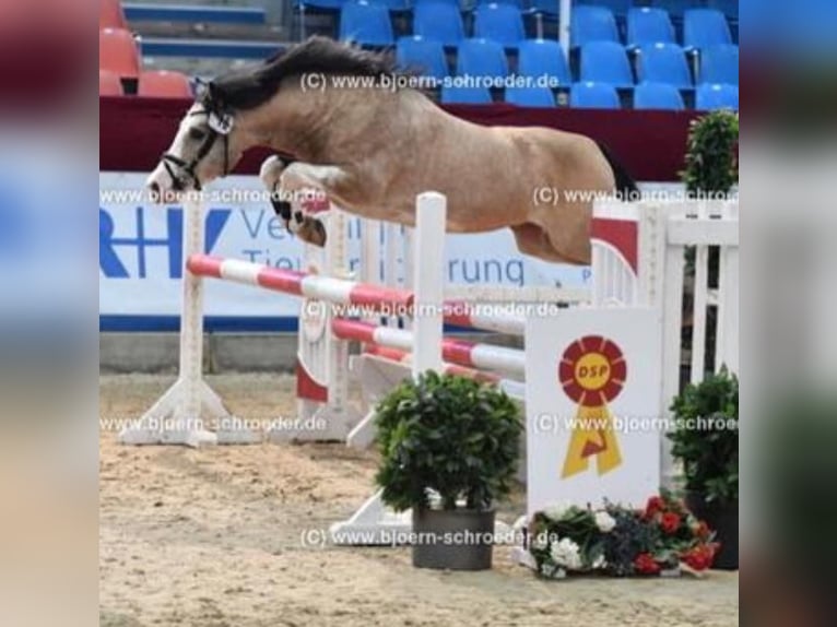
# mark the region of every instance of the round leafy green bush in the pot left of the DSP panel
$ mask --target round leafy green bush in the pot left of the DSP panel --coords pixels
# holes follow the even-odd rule
[[[508,494],[523,426],[502,390],[472,379],[428,371],[404,381],[376,407],[382,461],[376,481],[397,511],[429,507],[487,509]]]

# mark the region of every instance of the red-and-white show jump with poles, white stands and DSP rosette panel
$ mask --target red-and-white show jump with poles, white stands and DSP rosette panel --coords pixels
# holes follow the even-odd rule
[[[307,251],[310,271],[294,272],[203,255],[201,209],[198,204],[187,205],[188,272],[184,279],[180,375],[142,417],[140,427],[120,435],[121,441],[198,446],[254,442],[262,438],[262,434],[235,428],[239,423],[229,416],[201,377],[202,280],[211,277],[303,298],[297,397],[300,418],[316,418],[315,427],[305,421],[304,430],[271,433],[271,439],[345,439],[354,446],[367,446],[374,437],[373,414],[368,409],[357,411],[350,406],[350,370],[372,404],[405,376],[435,369],[492,382],[526,401],[530,507],[551,498],[555,486],[563,485],[562,494],[567,494],[567,487],[571,494],[573,489],[583,486],[582,494],[589,496],[596,492],[591,487],[598,485],[593,482],[596,476],[604,477],[599,483],[609,486],[611,497],[625,494],[630,500],[629,487],[620,493],[624,480],[606,482],[620,474],[627,476],[613,469],[620,464],[627,468],[630,464],[626,460],[637,457],[647,458],[645,465],[636,469],[643,473],[641,481],[632,480],[629,484],[641,487],[645,482],[656,487],[661,475],[665,482],[671,465],[667,440],[659,433],[640,434],[640,438],[608,431],[597,436],[599,439],[591,445],[589,434],[570,434],[564,429],[557,439],[550,439],[533,428],[534,421],[542,417],[535,412],[558,406],[561,401],[567,412],[577,412],[580,416],[592,412],[608,417],[611,410],[664,415],[683,379],[683,354],[689,355],[692,381],[699,381],[707,371],[717,370],[723,364],[738,370],[738,203],[598,202],[591,234],[592,292],[586,303],[576,298],[571,307],[551,320],[487,311],[459,299],[445,300],[445,203],[444,197],[433,192],[417,198],[417,224],[414,237],[405,244],[409,255],[403,259],[408,261],[409,272],[401,277],[402,285],[397,281],[388,280],[389,284],[378,285],[349,277],[346,223],[342,212],[329,212],[329,245]],[[392,260],[394,246],[387,241],[386,250],[376,251],[380,240],[363,240],[362,276],[375,275],[373,269],[380,260],[372,261],[374,252],[384,253],[380,256],[384,265]],[[693,334],[691,345],[683,346],[687,247],[696,250],[691,311]],[[716,285],[708,282],[710,247],[719,250]],[[421,259],[421,264],[414,262],[415,259]],[[412,288],[404,285],[410,283]],[[356,308],[363,312],[358,314]],[[717,324],[710,334],[707,312],[712,308]],[[446,339],[443,335],[446,322],[526,335],[527,350]],[[601,350],[586,354],[585,347],[591,338]],[[644,340],[637,343],[638,338]],[[350,357],[351,343],[359,343],[363,351]],[[557,357],[556,352],[561,353]],[[712,353],[714,364],[705,364],[705,356]],[[609,385],[602,390],[609,390],[610,395],[602,392],[601,402],[590,405],[589,399],[585,401],[579,392],[589,381],[579,379],[575,385],[570,379],[573,371],[583,374],[581,366],[596,365],[596,359],[611,359],[608,364],[611,372],[623,368],[624,380],[604,381],[602,386]],[[623,362],[627,364],[627,376]],[[565,371],[566,364],[575,364],[576,370]],[[603,371],[601,366],[589,369]],[[646,403],[648,399],[651,402]],[[207,425],[214,428],[208,429]],[[562,451],[588,452],[579,459],[571,459],[569,452],[566,459],[557,459],[556,447]],[[585,456],[590,449],[593,457],[588,460]],[[637,454],[637,451],[653,454]],[[409,512],[394,516],[382,507],[376,494],[331,531],[332,539],[339,543],[389,544],[393,537],[410,531]]]

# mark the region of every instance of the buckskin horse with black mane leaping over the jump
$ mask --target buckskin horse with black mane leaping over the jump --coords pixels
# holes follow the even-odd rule
[[[508,227],[523,253],[590,262],[593,194],[636,192],[603,145],[547,128],[479,126],[421,90],[370,86],[409,75],[397,72],[391,55],[311,37],[222,75],[186,114],[149,190],[158,200],[200,189],[227,175],[246,150],[269,146],[293,157],[270,157],[261,177],[285,225],[305,241],[321,246],[322,224],[292,215],[280,197],[315,189],[350,213],[414,225],[416,194],[434,190],[448,199],[449,232]]]

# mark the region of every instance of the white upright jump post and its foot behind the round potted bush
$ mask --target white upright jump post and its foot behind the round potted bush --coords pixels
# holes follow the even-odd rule
[[[437,192],[421,193],[415,212],[413,252],[422,263],[413,264],[413,377],[426,370],[444,369],[441,338],[447,199]],[[372,419],[372,416],[366,419]],[[403,544],[411,530],[411,512],[393,512],[384,505],[381,490],[378,490],[349,520],[332,524],[330,533],[334,544],[392,545]]]

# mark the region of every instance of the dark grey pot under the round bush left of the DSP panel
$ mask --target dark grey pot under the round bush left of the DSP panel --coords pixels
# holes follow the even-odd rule
[[[413,566],[486,570],[492,566],[494,510],[413,509]]]

